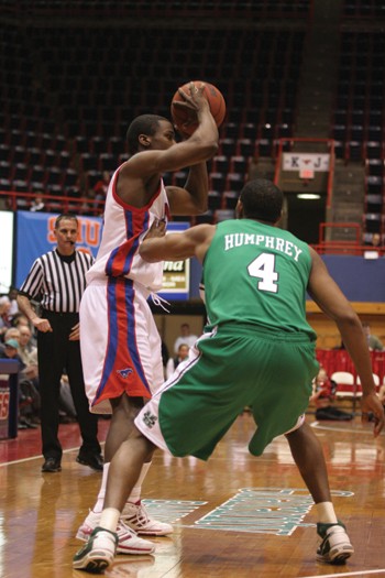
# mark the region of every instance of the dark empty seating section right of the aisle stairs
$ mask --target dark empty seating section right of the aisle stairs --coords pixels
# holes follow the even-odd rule
[[[384,235],[384,132],[385,132],[385,37],[375,21],[384,19],[381,2],[346,0],[341,31],[339,78],[330,137],[336,139],[337,156],[346,164],[365,163],[365,206],[363,231],[366,241],[373,232]],[[372,26],[354,28],[354,19]],[[349,20],[346,20],[349,19]],[[371,20],[372,19],[372,20]],[[353,22],[353,24],[352,24]],[[362,20],[360,20],[362,22]]]

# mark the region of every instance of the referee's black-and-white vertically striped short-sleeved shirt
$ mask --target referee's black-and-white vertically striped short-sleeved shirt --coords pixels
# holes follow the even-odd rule
[[[86,273],[92,263],[92,255],[82,251],[68,257],[50,251],[35,260],[19,292],[38,302],[43,309],[78,313]]]

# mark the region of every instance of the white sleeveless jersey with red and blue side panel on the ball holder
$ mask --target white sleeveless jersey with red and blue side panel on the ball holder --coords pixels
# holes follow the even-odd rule
[[[96,262],[87,273],[87,283],[106,280],[106,276],[125,277],[156,292],[162,287],[163,262],[146,263],[138,249],[155,219],[168,220],[166,189],[161,179],[158,192],[145,207],[127,205],[117,194],[121,166],[113,173],[108,187],[101,243]]]

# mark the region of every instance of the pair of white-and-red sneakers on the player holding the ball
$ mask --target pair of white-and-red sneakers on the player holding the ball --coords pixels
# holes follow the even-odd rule
[[[76,537],[78,539],[88,541],[94,530],[100,526],[101,514],[89,512],[88,516],[79,526]],[[118,527],[118,547],[117,554],[152,554],[155,550],[155,544],[147,539],[140,538],[136,533],[119,520]]]

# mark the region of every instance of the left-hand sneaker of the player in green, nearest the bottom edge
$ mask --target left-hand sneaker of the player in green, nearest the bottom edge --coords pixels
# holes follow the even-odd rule
[[[76,570],[101,574],[112,566],[117,550],[118,536],[103,527],[96,527],[82,548],[74,556],[73,567]]]

